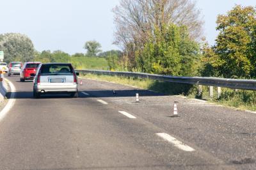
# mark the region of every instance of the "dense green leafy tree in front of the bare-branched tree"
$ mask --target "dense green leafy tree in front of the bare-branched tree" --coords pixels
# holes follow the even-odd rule
[[[196,75],[199,45],[189,38],[185,26],[156,27],[154,35],[136,52],[137,67],[143,72]]]

